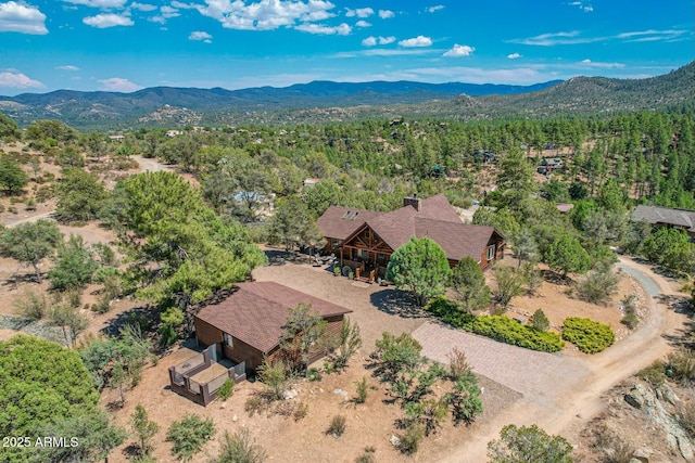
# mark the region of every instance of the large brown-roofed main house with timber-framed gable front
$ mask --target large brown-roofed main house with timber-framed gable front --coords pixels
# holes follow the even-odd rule
[[[443,194],[406,197],[392,213],[331,206],[317,224],[326,237],[325,250],[363,274],[383,276],[391,254],[412,236],[437,242],[452,267],[469,256],[484,270],[504,258],[504,237],[492,227],[464,223]]]

